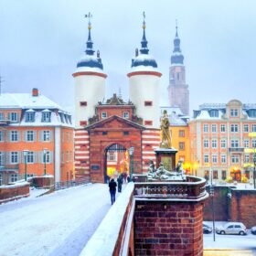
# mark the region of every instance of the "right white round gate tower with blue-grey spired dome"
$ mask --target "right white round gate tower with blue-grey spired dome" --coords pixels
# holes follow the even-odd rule
[[[143,39],[140,54],[136,49],[132,59],[132,69],[127,74],[129,78],[130,100],[136,106],[136,115],[142,117],[144,126],[160,127],[160,77],[157,63],[149,54],[145,37],[145,22],[143,23]]]

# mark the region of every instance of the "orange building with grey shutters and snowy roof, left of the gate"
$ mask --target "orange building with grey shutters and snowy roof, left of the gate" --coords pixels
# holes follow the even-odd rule
[[[0,95],[0,186],[25,174],[73,178],[71,115],[37,89]]]

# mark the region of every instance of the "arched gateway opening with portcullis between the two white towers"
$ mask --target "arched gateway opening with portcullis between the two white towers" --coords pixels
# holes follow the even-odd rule
[[[104,182],[119,174],[129,175],[129,154],[123,144],[111,144],[105,148]]]

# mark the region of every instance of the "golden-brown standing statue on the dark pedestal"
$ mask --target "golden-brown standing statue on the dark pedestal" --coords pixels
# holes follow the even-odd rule
[[[169,117],[166,111],[164,111],[164,115],[161,118],[161,138],[162,142],[160,143],[161,148],[172,148],[172,138],[169,130],[170,122]]]

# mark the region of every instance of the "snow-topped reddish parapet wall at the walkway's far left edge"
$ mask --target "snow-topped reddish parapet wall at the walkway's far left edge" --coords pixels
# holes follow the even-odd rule
[[[29,197],[29,183],[27,182],[20,185],[0,187],[0,204],[22,197]]]

